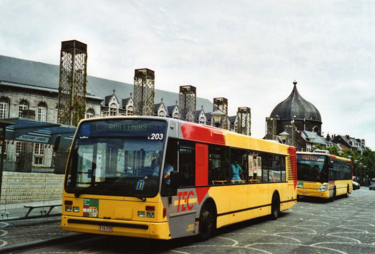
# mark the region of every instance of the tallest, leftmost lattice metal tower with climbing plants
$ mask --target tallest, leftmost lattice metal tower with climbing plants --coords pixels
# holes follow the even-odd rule
[[[58,123],[77,126],[86,113],[87,44],[61,42]]]

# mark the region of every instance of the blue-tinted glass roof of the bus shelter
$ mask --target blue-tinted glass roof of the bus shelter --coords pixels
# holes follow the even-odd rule
[[[74,126],[39,122],[22,117],[3,120],[15,123],[6,126],[5,140],[55,144],[56,137],[61,135],[60,146],[71,146],[77,129]]]

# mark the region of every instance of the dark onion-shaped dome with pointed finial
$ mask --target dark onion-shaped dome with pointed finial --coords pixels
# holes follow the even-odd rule
[[[293,82],[292,93],[280,102],[271,113],[271,117],[279,116],[280,120],[306,119],[322,121],[319,110],[302,98],[297,90],[297,82]]]

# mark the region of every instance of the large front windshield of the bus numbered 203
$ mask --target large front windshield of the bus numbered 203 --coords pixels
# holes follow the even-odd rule
[[[97,120],[80,125],[72,146],[66,191],[81,194],[153,197],[166,122]]]

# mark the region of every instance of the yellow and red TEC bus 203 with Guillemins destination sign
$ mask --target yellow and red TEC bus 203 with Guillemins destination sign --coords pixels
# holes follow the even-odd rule
[[[85,119],[67,163],[62,229],[208,239],[276,219],[297,202],[296,158],[295,147],[178,119]]]

